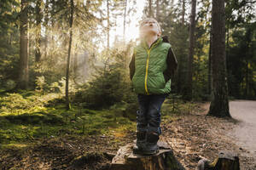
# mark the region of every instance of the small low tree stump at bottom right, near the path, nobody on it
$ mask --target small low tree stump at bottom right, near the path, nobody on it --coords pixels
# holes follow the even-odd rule
[[[212,163],[207,159],[198,162],[196,170],[240,170],[239,157],[231,151],[220,151]]]

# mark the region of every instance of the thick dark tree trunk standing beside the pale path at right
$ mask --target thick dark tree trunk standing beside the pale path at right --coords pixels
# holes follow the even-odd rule
[[[212,1],[212,101],[209,115],[230,116],[226,55],[224,0]]]

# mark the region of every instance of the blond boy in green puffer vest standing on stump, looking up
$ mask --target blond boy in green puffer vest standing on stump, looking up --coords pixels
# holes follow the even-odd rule
[[[152,155],[158,150],[160,108],[171,92],[177,60],[167,37],[160,37],[160,25],[156,20],[143,20],[139,29],[141,42],[134,48],[129,65],[139,103],[137,143],[133,152]]]

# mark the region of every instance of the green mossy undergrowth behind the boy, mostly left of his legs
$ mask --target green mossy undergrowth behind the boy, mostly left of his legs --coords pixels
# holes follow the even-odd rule
[[[0,147],[24,148],[42,139],[64,135],[104,134],[122,138],[129,131],[136,131],[136,111],[125,112],[124,105],[101,111],[71,105],[66,111],[60,101],[60,94],[41,95],[32,91],[0,96]],[[162,120],[175,121],[178,114],[187,113],[194,106],[181,100],[173,104],[172,99],[166,99]]]

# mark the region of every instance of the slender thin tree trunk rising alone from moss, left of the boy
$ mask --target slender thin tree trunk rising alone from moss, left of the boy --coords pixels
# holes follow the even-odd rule
[[[70,64],[70,54],[72,48],[72,37],[73,37],[73,0],[70,0],[70,19],[69,19],[69,44],[68,44],[68,54],[67,54],[67,72],[66,72],[66,109],[69,110],[69,99],[68,99],[68,78],[69,78],[69,64]]]

